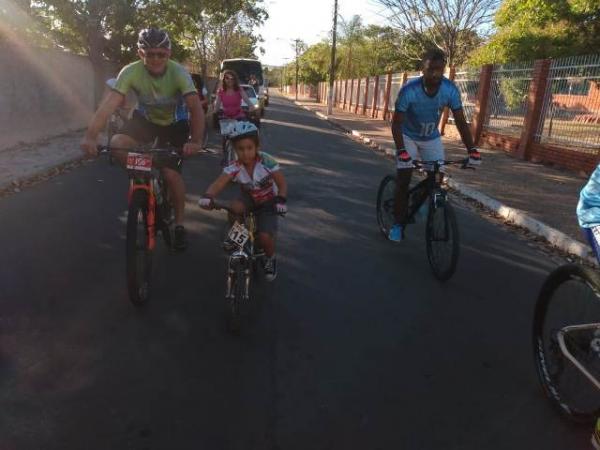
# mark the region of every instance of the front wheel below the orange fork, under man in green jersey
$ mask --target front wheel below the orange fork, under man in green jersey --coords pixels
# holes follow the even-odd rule
[[[148,301],[153,251],[148,249],[148,195],[137,190],[131,197],[127,215],[127,288],[136,306]]]

